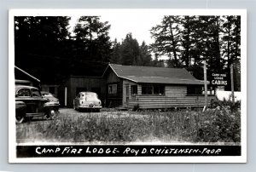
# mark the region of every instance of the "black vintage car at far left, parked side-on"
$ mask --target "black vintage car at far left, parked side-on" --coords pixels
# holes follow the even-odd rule
[[[26,85],[15,86],[16,123],[33,117],[53,119],[58,114],[59,103],[45,99],[39,89]]]

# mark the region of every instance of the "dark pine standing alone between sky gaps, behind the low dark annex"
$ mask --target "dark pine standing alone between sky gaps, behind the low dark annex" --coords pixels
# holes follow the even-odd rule
[[[98,16],[82,16],[73,32],[79,60],[109,61],[111,42],[108,36],[110,25],[101,22]]]

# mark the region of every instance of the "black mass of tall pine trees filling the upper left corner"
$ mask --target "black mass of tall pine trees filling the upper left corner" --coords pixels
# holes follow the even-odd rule
[[[57,80],[70,51],[69,20],[66,16],[16,16],[15,65],[42,82]]]

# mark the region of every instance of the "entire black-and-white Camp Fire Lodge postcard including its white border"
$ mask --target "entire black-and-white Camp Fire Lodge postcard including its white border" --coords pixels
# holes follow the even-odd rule
[[[9,163],[246,163],[245,9],[10,9]]]

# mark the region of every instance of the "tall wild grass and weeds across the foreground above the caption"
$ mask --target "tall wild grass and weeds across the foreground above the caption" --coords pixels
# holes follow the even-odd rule
[[[17,125],[16,138],[56,142],[240,142],[240,112],[128,112]]]

